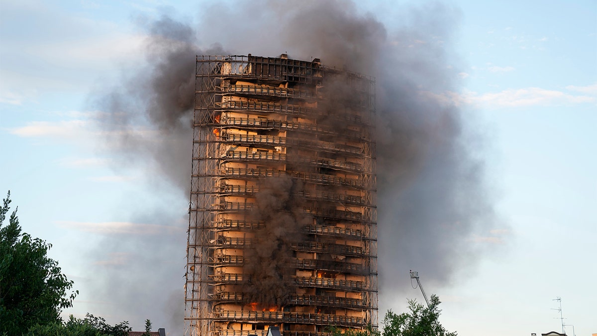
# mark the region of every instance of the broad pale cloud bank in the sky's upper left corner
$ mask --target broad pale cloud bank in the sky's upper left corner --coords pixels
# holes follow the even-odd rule
[[[117,75],[115,62],[138,63],[145,48],[146,36],[132,25],[69,13],[43,1],[35,6],[3,1],[2,14],[2,28],[10,31],[2,35],[2,50],[12,57],[3,59],[0,75],[5,89],[20,96],[3,92],[0,102],[26,103],[36,99],[35,91],[85,93],[97,78]],[[21,29],[23,17],[35,24]]]

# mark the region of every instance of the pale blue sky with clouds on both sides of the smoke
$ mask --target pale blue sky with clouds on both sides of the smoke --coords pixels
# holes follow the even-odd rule
[[[459,85],[435,99],[460,106],[471,134],[481,135],[474,153],[484,160],[488,193],[507,230],[450,283],[426,283],[421,273],[423,286],[443,301],[444,325],[462,336],[561,331],[556,297],[577,335],[597,332],[597,2],[445,4],[456,27],[448,47]],[[392,30],[414,5],[358,7]],[[67,313],[130,320],[139,330],[149,318],[176,330],[164,307],[177,307],[173,293],[183,291],[188,197],[152,164],[136,157],[122,164],[119,144],[97,126],[101,111],[90,108],[90,93],[139,68],[144,20],[169,13],[198,22],[205,6],[0,4],[0,190],[11,190],[24,231],[53,244],[51,256],[81,291]],[[199,38],[202,47],[211,43]],[[128,234],[144,235],[149,245],[114,246]],[[170,259],[176,253],[161,240],[180,241],[180,260]],[[137,262],[161,249],[152,268]],[[154,291],[120,295],[133,280],[96,281],[96,274],[118,272],[140,274],[133,280]],[[135,307],[144,295],[159,308]],[[420,292],[408,298],[420,301]],[[382,295],[380,314],[400,311],[405,299]]]

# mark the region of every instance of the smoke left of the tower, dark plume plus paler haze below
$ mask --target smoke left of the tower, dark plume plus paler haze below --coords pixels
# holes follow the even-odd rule
[[[142,214],[131,214],[130,220],[176,225],[179,230],[170,234],[106,237],[93,252],[94,258],[109,258],[113,253],[125,258],[115,264],[94,267],[90,291],[98,295],[97,300],[110,301],[118,308],[111,308],[103,315],[101,311],[91,313],[106,316],[112,323],[129,320],[135,330],[142,329],[144,320],[149,318],[156,328],[165,327],[176,335],[183,332],[188,217],[186,207],[180,204],[188,204],[190,190],[195,54],[224,51],[218,45],[201,50],[195,30],[170,17],[150,23],[146,30],[144,64],[135,71],[126,69],[122,83],[94,94],[91,99],[101,111],[99,126],[122,159],[120,167],[142,170],[152,193],[164,202],[139,204],[138,209],[129,213]],[[172,188],[182,200],[177,202],[177,212],[168,203]]]

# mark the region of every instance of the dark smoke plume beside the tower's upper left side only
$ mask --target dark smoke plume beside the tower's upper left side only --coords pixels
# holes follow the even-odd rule
[[[214,44],[198,47],[190,26],[162,17],[148,27],[146,65],[125,73],[118,87],[94,98],[101,124],[130,165],[142,162],[149,175],[190,190],[195,54],[221,54]],[[186,193],[188,194],[188,193]]]

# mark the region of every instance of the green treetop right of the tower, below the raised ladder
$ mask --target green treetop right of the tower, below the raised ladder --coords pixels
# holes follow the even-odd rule
[[[439,323],[439,298],[431,295],[429,307],[408,300],[409,313],[395,314],[388,310],[383,319],[382,336],[457,336]]]

